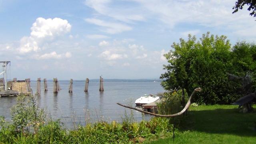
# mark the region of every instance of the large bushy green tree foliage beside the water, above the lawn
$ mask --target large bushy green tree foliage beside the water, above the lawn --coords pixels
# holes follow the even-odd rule
[[[202,87],[196,102],[230,104],[240,97],[236,89],[241,84],[229,81],[226,73],[244,75],[245,71],[255,70],[255,62],[252,64],[250,58],[255,58],[254,47],[241,42],[231,48],[226,36],[209,32],[199,41],[191,35],[188,40],[180,38],[180,43],[173,43],[173,50],[164,55],[169,64],[164,65],[166,72],[160,77],[162,86],[166,90],[185,88],[189,94],[194,88]],[[240,54],[240,51],[247,53]]]

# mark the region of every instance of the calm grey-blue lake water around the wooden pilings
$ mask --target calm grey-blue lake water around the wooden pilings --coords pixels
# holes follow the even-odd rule
[[[59,81],[62,90],[58,94],[52,91],[53,82],[49,81],[48,91],[44,91],[44,82],[41,82],[41,96],[38,96],[37,102],[41,108],[46,111],[53,119],[60,119],[67,128],[72,128],[74,124],[84,125],[86,122],[95,122],[104,120],[111,122],[122,121],[125,111],[131,114],[131,110],[116,104],[130,104],[135,106],[134,102],[144,94],[156,94],[164,92],[160,82],[154,80],[105,80],[104,92],[99,91],[99,81],[89,82],[88,92],[84,92],[85,81],[73,82],[73,92],[68,92],[69,81]],[[36,92],[36,82],[31,82],[33,92]],[[0,115],[10,120],[10,108],[16,104],[16,97],[0,98]],[[132,110],[136,121],[149,119],[151,116]]]

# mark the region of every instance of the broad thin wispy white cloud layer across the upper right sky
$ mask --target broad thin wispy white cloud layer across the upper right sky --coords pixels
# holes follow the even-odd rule
[[[196,35],[202,29],[208,31],[210,27],[218,31],[223,29],[222,32],[229,31],[230,35],[234,32],[250,39],[250,36],[255,36],[254,26],[251,26],[255,25],[254,17],[249,16],[246,10],[248,6],[232,14],[234,4],[234,0],[124,0],[120,3],[114,0],[86,0],[85,2],[86,6],[95,10],[94,16],[97,18],[107,16],[112,18],[112,21],[122,21],[129,25],[138,21],[156,21],[161,28],[171,30],[179,24],[189,24],[184,28],[185,31],[181,32],[182,36],[187,36],[188,33]],[[99,22],[97,23],[100,25]],[[190,26],[199,26],[200,30],[190,30]],[[112,30],[113,28],[110,29],[112,33],[117,33]],[[250,32],[250,29],[253,32]]]

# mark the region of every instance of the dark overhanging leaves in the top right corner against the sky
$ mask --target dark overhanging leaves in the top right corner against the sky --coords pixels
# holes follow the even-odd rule
[[[239,9],[243,9],[244,5],[248,5],[249,8],[247,10],[252,11],[250,13],[251,16],[256,17],[256,0],[237,0],[236,6],[233,7],[234,12],[238,12]]]

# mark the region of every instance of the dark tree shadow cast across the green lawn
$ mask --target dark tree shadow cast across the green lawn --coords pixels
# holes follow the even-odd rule
[[[256,112],[243,114],[238,108],[214,110],[191,110],[180,123],[181,131],[198,131],[214,134],[256,136]],[[254,108],[255,111],[255,108]]]

